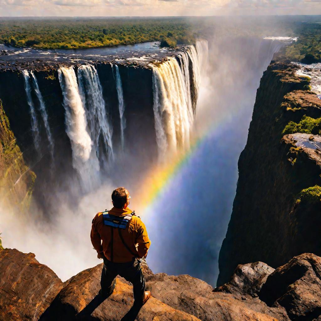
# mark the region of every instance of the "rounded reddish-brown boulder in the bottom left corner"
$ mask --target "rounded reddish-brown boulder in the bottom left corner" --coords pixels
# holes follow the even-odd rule
[[[38,320],[62,286],[33,253],[0,249],[0,320]]]

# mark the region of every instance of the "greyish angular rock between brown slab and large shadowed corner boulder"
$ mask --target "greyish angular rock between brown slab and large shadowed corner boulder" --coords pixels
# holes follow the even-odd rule
[[[274,271],[273,267],[255,262],[239,264],[231,277],[230,282],[215,288],[214,292],[243,294],[256,297],[267,277]]]

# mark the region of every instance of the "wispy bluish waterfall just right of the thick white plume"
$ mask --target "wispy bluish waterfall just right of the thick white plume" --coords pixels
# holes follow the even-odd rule
[[[114,159],[112,129],[106,112],[105,101],[97,70],[93,65],[78,68],[78,81],[83,105],[86,107],[87,121],[96,155],[107,166]],[[102,143],[102,150],[100,148]],[[105,156],[107,155],[107,159]]]

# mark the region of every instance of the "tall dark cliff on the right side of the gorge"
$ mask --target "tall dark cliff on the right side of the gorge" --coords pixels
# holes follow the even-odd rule
[[[321,254],[320,197],[311,201],[311,191],[304,192],[321,184],[318,156],[291,137],[282,139],[290,121],[321,117],[321,100],[303,90],[308,80],[294,71],[294,66],[272,63],[257,90],[220,251],[218,285],[229,280],[238,264],[263,261],[277,267],[302,252]]]

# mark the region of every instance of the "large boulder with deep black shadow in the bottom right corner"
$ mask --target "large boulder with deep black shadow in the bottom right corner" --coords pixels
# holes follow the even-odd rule
[[[259,298],[284,307],[291,320],[321,319],[321,258],[304,253],[268,276]]]

